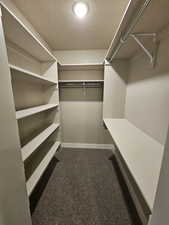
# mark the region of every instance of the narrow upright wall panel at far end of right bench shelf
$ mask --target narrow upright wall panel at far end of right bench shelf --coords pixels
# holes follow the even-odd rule
[[[104,118],[124,118],[127,61],[116,61],[104,68]]]

